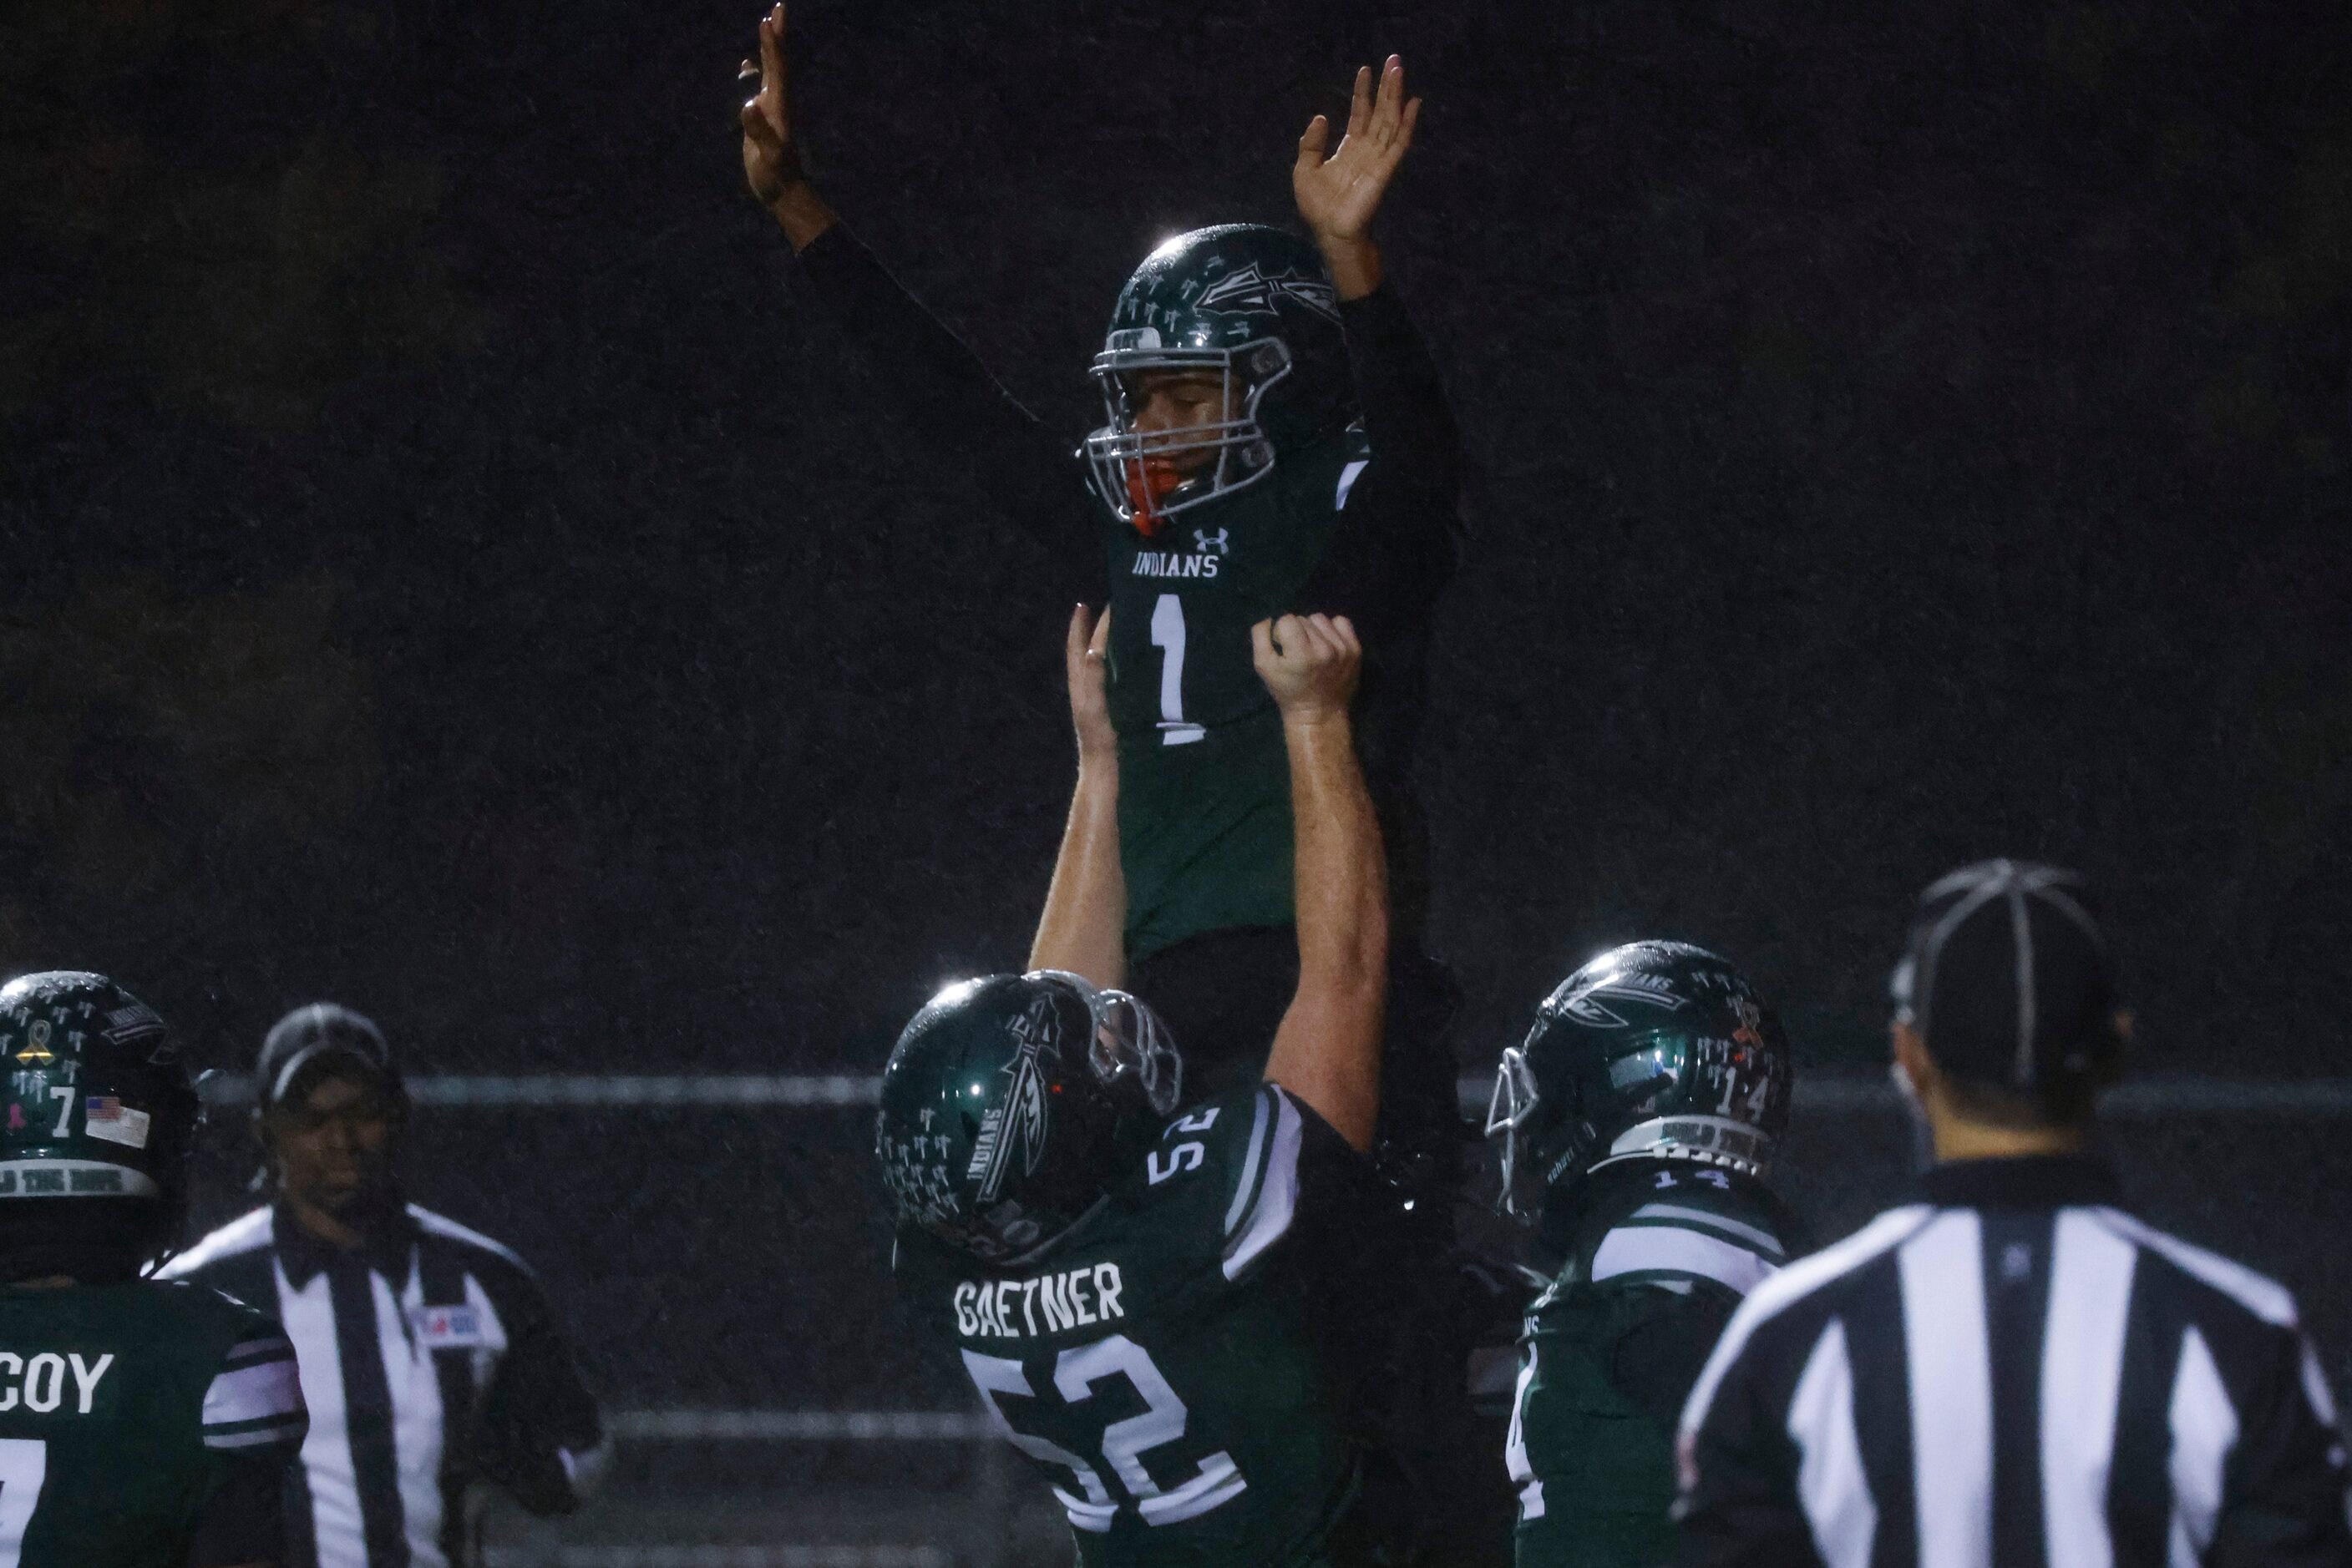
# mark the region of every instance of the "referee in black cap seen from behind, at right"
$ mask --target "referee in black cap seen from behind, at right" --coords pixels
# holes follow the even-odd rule
[[[1682,1413],[1684,1561],[2352,1563],[2293,1298],[2124,1213],[2091,1152],[2129,1016],[2082,882],[1936,882],[1893,990],[1936,1164],[1733,1314]]]

